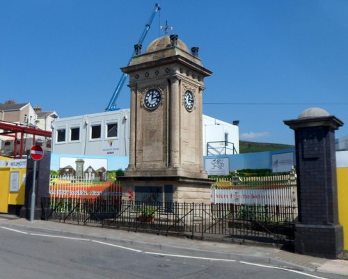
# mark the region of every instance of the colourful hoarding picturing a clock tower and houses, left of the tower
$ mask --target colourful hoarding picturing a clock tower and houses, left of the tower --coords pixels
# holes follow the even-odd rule
[[[120,200],[118,170],[125,170],[128,157],[93,157],[52,154],[49,196],[51,198]]]

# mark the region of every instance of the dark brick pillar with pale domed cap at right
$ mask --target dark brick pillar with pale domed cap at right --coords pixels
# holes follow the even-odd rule
[[[299,195],[295,252],[335,259],[343,251],[335,159],[335,130],[343,122],[319,108],[284,122],[295,131]]]

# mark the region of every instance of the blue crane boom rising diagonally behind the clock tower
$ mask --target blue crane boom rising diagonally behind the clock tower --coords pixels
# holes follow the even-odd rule
[[[143,41],[145,40],[145,37],[148,34],[148,31],[150,29],[152,21],[155,18],[156,13],[160,9],[161,8],[159,7],[159,4],[156,3],[155,4],[155,8],[152,11],[152,14],[151,14],[151,16],[150,16],[150,18],[148,20],[148,23],[145,24],[145,29],[144,29],[143,33],[141,34],[141,37],[140,37],[139,42],[138,42],[138,45],[143,45]],[[131,58],[129,59],[127,65],[129,65],[129,63],[132,61],[132,57],[135,55],[135,53],[136,53],[136,51],[134,50],[133,54],[132,54]],[[126,80],[127,76],[128,76],[128,74],[123,73],[122,76],[120,77],[120,81],[118,81],[116,89],[113,91],[113,95],[112,95],[112,97],[110,99],[110,102],[109,102],[108,106],[106,107],[105,111],[116,111],[116,110],[118,110],[116,108],[116,100],[118,98],[118,95],[120,95],[121,89],[123,87],[123,84],[125,84],[125,80]]]

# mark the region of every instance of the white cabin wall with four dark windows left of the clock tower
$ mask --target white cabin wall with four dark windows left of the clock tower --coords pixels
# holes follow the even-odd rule
[[[129,156],[129,109],[53,122],[52,153]]]

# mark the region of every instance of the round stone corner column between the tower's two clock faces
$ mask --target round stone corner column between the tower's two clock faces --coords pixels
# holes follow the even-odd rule
[[[169,153],[169,166],[180,166],[180,79],[173,77],[171,80],[171,102],[169,104],[171,121],[171,140]]]

